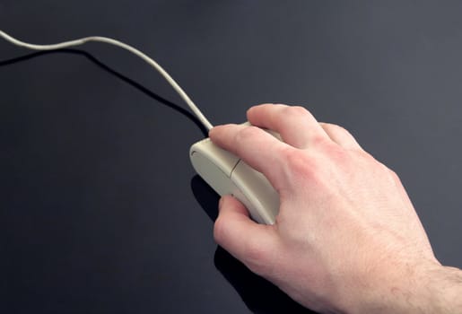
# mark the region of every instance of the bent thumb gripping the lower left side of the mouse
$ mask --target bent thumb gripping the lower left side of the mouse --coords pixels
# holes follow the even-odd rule
[[[275,228],[252,221],[246,207],[233,196],[220,200],[214,239],[253,272],[270,275],[278,251]]]

